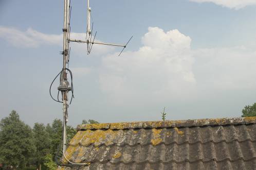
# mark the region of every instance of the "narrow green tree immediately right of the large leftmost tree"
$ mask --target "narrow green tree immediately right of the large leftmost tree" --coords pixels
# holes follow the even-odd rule
[[[44,163],[45,156],[50,154],[51,151],[51,139],[43,123],[34,123],[33,134],[36,147],[35,160],[39,170],[41,170],[41,164]]]

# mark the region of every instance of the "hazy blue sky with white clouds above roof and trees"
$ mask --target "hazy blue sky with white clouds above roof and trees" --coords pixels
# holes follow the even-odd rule
[[[0,0],[0,119],[51,123],[62,69],[63,1]],[[86,1],[71,0],[71,38],[85,38]],[[240,117],[256,102],[256,0],[90,1],[96,39],[70,44],[68,124]],[[56,96],[59,82],[53,84]]]

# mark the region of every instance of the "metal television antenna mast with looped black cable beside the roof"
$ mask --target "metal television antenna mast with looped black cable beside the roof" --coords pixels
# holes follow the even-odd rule
[[[63,31],[63,51],[61,54],[63,55],[63,68],[59,72],[59,74],[53,79],[51,85],[50,85],[50,96],[54,101],[61,102],[63,103],[63,124],[62,124],[62,144],[63,144],[63,149],[62,149],[62,154],[63,158],[68,162],[66,163],[58,163],[58,165],[61,166],[81,166],[81,165],[89,165],[89,162],[86,163],[76,163],[76,162],[71,162],[69,161],[66,156],[65,156],[65,151],[66,151],[66,146],[67,146],[67,133],[66,133],[66,124],[68,121],[68,107],[69,104],[71,104],[72,98],[74,98],[74,89],[73,89],[73,83],[72,83],[72,72],[71,70],[68,69],[69,65],[69,56],[70,56],[70,47],[69,43],[70,42],[78,42],[78,43],[85,43],[87,44],[87,55],[89,55],[92,51],[93,45],[98,44],[98,45],[107,45],[107,46],[117,46],[117,47],[122,47],[123,49],[119,53],[118,56],[121,55],[123,50],[126,48],[126,46],[129,44],[130,40],[132,37],[126,42],[125,45],[118,45],[118,44],[111,44],[111,43],[105,43],[105,42],[97,42],[95,41],[95,37],[97,35],[97,31],[94,35],[93,34],[93,24],[92,27],[90,26],[90,13],[92,12],[91,8],[89,7],[89,0],[87,0],[87,30],[86,30],[86,38],[85,40],[80,40],[80,39],[72,39],[70,38],[70,15],[71,15],[71,6],[70,6],[70,0],[64,0],[64,28],[62,29]],[[93,38],[93,40],[92,40]],[[69,84],[67,75],[69,74],[70,79],[71,79],[71,84]],[[57,79],[57,77],[60,76],[60,86],[58,87],[58,97],[57,99],[54,99],[51,95],[51,87],[53,82]],[[70,102],[68,103],[68,93],[71,91],[71,99]],[[62,99],[59,99],[59,94],[61,93]]]

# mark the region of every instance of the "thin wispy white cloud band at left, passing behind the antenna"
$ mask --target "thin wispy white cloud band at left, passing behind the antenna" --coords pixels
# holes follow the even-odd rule
[[[70,33],[70,38],[84,40],[85,33]],[[0,38],[9,42],[10,45],[22,48],[38,48],[41,45],[57,45],[63,46],[63,34],[46,34],[36,31],[32,28],[28,28],[26,31],[21,31],[13,27],[0,26]],[[100,41],[95,39],[95,41]],[[77,42],[70,43],[72,51],[81,56],[87,55],[87,45],[78,44]],[[96,55],[106,54],[113,51],[114,48],[106,47],[102,45],[94,45],[93,51],[97,51]],[[92,51],[92,52],[93,52]]]

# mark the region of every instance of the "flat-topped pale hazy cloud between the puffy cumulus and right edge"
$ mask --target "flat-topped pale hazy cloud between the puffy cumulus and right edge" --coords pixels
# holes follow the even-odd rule
[[[253,89],[256,50],[246,47],[198,49],[193,52],[198,86],[210,90]]]

